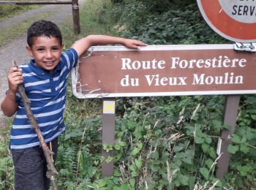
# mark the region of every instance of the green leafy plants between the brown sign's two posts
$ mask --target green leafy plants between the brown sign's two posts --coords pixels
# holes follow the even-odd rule
[[[129,99],[116,123],[117,141],[129,142],[121,148],[124,157],[116,156],[119,177],[135,189],[221,186],[214,169],[222,101],[222,96]]]

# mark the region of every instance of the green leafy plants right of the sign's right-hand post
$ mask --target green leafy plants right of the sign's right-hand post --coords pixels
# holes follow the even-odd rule
[[[237,188],[256,186],[256,97],[255,95],[241,96],[236,131],[228,147],[232,153],[230,172],[227,181]]]

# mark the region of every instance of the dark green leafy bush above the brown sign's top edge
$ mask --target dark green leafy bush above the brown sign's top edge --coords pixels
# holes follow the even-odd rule
[[[129,7],[124,9],[125,7]],[[135,1],[116,8],[118,30],[124,37],[141,39],[148,44],[227,43],[204,22],[197,4],[168,7],[165,12],[148,12],[148,4]],[[145,11],[146,10],[146,11]],[[139,17],[138,17],[139,16]]]

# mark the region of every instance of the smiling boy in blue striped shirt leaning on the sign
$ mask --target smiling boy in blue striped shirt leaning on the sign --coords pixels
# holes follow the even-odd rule
[[[61,31],[56,24],[47,20],[39,20],[29,27],[27,43],[26,50],[33,58],[19,69],[10,69],[9,89],[1,109],[7,116],[16,113],[10,135],[15,189],[49,189],[49,180],[45,176],[45,156],[17,93],[18,84],[23,83],[45,142],[51,143],[56,157],[58,136],[65,130],[63,113],[67,77],[78,58],[91,45],[122,44],[140,49],[140,46],[146,44],[135,39],[90,35],[78,40],[66,53],[62,53],[64,45]]]

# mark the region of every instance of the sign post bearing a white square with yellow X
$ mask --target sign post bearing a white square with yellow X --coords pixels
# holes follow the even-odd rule
[[[102,114],[102,144],[113,145],[115,143],[115,120],[116,120],[116,101],[114,98],[103,99],[103,114]],[[114,159],[114,151],[106,152],[102,150],[102,156],[108,159],[109,156]],[[102,163],[102,178],[113,175],[114,161]]]

